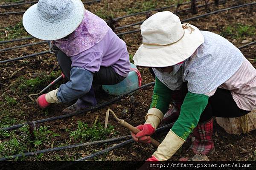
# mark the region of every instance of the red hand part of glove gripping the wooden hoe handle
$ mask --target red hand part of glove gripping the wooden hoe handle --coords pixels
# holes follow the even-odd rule
[[[135,141],[139,141],[142,143],[150,143],[151,138],[150,135],[154,133],[154,127],[150,124],[145,124],[145,125],[139,125],[136,127],[137,129],[140,130],[136,135],[131,132],[131,136]]]

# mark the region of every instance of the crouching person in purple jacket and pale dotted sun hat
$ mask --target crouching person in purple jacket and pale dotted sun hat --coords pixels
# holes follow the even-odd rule
[[[32,36],[50,42],[50,51],[69,80],[39,96],[41,108],[75,99],[64,113],[96,105],[92,84],[113,85],[128,76],[125,42],[104,20],[85,10],[81,0],[39,0],[25,12],[23,26]]]

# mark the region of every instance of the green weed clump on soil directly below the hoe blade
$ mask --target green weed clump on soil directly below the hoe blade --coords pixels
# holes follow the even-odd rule
[[[106,139],[108,136],[115,136],[116,131],[113,126],[104,129],[101,123],[93,124],[89,127],[86,123],[79,121],[77,130],[70,132],[70,138],[74,140],[83,141],[96,141]]]

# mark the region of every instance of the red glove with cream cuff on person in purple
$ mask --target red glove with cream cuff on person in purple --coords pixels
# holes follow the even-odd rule
[[[58,101],[58,97],[57,97],[57,91],[58,89],[55,89],[53,91],[50,91],[47,94],[42,94],[41,96],[39,96],[36,99],[36,103],[37,105],[42,108],[45,109],[47,108],[51,103],[61,103]]]

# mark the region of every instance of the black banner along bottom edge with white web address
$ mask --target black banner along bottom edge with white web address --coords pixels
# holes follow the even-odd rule
[[[256,170],[256,161],[3,161],[0,170]]]

